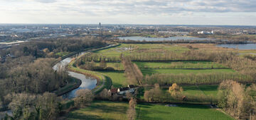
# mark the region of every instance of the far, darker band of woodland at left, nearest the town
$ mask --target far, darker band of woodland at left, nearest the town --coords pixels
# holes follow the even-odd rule
[[[104,45],[97,37],[67,37],[54,40],[33,40],[11,47],[11,49],[1,50],[1,56],[11,54],[14,57],[35,56],[54,57],[58,52],[78,52],[88,47],[98,47]]]

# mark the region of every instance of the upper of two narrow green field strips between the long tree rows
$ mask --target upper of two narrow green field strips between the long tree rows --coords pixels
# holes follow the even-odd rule
[[[139,68],[227,68],[210,61],[134,62]]]

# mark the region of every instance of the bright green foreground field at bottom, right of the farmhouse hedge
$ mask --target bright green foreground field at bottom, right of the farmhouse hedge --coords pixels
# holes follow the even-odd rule
[[[204,105],[177,104],[178,107],[166,107],[165,104],[137,104],[137,119],[233,119],[230,116],[210,109]]]

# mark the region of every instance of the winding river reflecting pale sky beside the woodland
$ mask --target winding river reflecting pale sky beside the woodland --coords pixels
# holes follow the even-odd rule
[[[55,71],[58,71],[58,69],[67,66],[73,58],[81,56],[81,55],[86,54],[86,53],[87,52],[80,52],[79,54],[75,54],[74,56],[70,56],[66,59],[63,59],[62,61],[55,64],[55,66],[53,66],[53,69]],[[75,92],[77,90],[86,89],[86,88],[92,90],[93,88],[96,87],[97,80],[95,78],[90,78],[90,77],[85,76],[81,73],[74,73],[72,71],[68,71],[68,75],[72,76],[73,78],[80,79],[82,81],[82,84],[79,86],[79,88],[76,88],[75,90],[72,90],[72,91],[62,95],[63,99],[72,99],[72,98],[74,98],[75,97]]]

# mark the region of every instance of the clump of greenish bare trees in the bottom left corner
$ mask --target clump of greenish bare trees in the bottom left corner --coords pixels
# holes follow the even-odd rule
[[[42,95],[12,93],[6,100],[13,113],[11,119],[57,119],[62,109],[61,98],[49,92]]]

